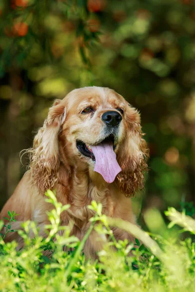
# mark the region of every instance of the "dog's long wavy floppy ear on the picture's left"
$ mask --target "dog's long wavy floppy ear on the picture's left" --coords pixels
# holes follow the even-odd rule
[[[34,138],[33,148],[29,151],[32,183],[42,194],[47,189],[52,189],[58,180],[58,136],[65,114],[64,105],[60,100],[55,100],[42,128]]]

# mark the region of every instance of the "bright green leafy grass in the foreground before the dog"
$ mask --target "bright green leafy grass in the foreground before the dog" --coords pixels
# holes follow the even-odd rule
[[[54,205],[48,213],[47,237],[39,236],[35,222],[23,223],[20,236],[25,248],[16,251],[17,243],[4,243],[3,238],[11,229],[16,214],[9,212],[6,234],[0,236],[0,292],[32,291],[90,291],[90,292],[192,292],[195,291],[195,220],[174,208],[166,212],[170,219],[168,227],[157,211],[147,215],[146,222],[155,218],[162,221],[157,234],[148,234],[139,227],[120,219],[107,218],[101,214],[101,204],[95,201],[89,208],[96,211],[90,219],[92,224],[83,240],[70,236],[71,226],[60,226],[59,216],[69,206],[57,202],[55,194],[47,192],[47,201]],[[148,224],[151,231],[156,225]],[[3,222],[0,222],[0,229]],[[116,241],[109,226],[117,226],[137,238],[136,247],[125,241]],[[179,227],[180,226],[180,227]],[[181,228],[182,227],[182,228]],[[84,243],[92,229],[108,235],[99,261],[86,260],[82,253]],[[63,229],[63,236],[58,231]],[[34,233],[30,239],[29,233]],[[184,237],[185,239],[182,239]],[[54,241],[53,238],[56,238]],[[140,244],[143,242],[143,244]],[[69,251],[62,251],[66,246]],[[114,249],[112,247],[115,247]],[[42,251],[52,253],[51,258]],[[131,254],[131,256],[130,256]]]

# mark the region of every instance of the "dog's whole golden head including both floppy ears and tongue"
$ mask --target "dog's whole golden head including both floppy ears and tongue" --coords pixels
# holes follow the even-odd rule
[[[129,197],[143,187],[148,150],[140,116],[113,90],[71,91],[50,108],[34,140],[32,180],[41,192],[58,181],[60,161],[67,169],[94,170],[107,183],[119,183]]]

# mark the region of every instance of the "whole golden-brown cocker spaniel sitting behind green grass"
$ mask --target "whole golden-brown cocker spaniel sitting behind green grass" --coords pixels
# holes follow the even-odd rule
[[[136,223],[129,197],[143,188],[148,150],[142,135],[139,113],[117,92],[101,87],[71,91],[50,108],[29,149],[30,168],[0,218],[8,210],[20,214],[13,229],[27,219],[47,224],[52,206],[44,193],[56,189],[58,201],[70,204],[61,224],[73,220],[72,234],[80,239],[94,215],[87,208],[92,200],[102,203],[103,214]],[[132,239],[117,228],[113,233],[116,239]],[[96,238],[93,231],[84,248],[87,257],[102,247]],[[20,241],[16,232],[8,234],[7,240],[13,239]]]

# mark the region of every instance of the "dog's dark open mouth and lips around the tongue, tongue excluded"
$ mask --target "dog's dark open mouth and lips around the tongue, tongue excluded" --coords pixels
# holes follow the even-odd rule
[[[93,150],[92,150],[92,145],[88,145],[80,140],[77,140],[77,148],[78,148],[78,151],[86,156],[86,157],[89,157],[91,158],[93,161],[96,161],[96,158],[95,158],[95,155],[93,153]],[[97,145],[103,145],[103,144],[110,144],[113,146],[113,150],[115,150],[116,148],[116,145],[115,145],[115,136],[114,135],[109,135],[108,137],[106,137],[104,140],[102,140],[100,143],[98,144],[95,144],[94,146],[97,146]]]

